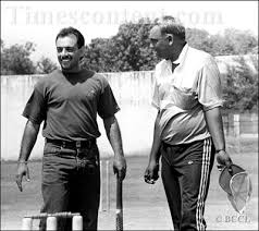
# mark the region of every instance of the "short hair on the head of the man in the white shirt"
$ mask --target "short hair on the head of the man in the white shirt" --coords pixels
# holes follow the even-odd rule
[[[162,34],[173,34],[185,40],[185,27],[173,16],[163,16],[160,21],[160,28]]]

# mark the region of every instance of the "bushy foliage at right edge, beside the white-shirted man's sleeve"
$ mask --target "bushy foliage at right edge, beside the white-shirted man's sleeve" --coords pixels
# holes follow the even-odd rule
[[[252,72],[244,58],[236,59],[237,66],[229,66],[223,86],[225,109],[234,111],[258,110],[258,71]],[[251,63],[258,70],[258,60]]]

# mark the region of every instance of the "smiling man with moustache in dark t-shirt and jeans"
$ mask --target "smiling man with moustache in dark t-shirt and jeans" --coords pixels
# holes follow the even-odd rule
[[[108,81],[83,70],[84,37],[75,28],[63,28],[55,38],[61,70],[41,78],[23,111],[28,119],[18,157],[16,183],[28,179],[27,160],[35,145],[40,123],[46,138],[42,158],[41,212],[72,211],[83,216],[84,230],[97,230],[100,199],[100,136],[97,114],[103,120],[114,151],[113,169],[123,180],[126,161],[115,113],[120,110]],[[59,220],[59,229],[71,229],[71,221]],[[46,229],[41,220],[40,229]]]

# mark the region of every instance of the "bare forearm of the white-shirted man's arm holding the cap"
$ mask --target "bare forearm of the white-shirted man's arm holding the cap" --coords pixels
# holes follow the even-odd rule
[[[221,108],[218,107],[206,111],[205,117],[215,149],[225,150],[225,137],[221,115]]]

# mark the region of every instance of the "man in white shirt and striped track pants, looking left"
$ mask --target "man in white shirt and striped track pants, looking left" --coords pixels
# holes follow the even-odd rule
[[[221,117],[223,99],[214,59],[185,40],[185,27],[172,16],[150,31],[151,47],[162,59],[156,66],[152,106],[158,109],[145,181],[161,177],[174,230],[205,230],[205,200],[214,155],[225,151]]]

